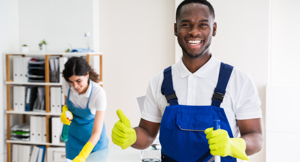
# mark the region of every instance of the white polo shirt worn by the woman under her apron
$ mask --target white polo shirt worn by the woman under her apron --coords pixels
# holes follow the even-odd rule
[[[93,92],[91,94],[91,89],[93,84]],[[62,82],[62,90],[65,96],[68,96],[70,84],[65,79]],[[88,103],[88,98],[91,94],[90,101]],[[82,109],[86,109],[86,104],[88,103],[88,108],[90,109],[92,114],[96,114],[96,111],[104,111],[106,110],[107,101],[106,101],[106,93],[101,85],[90,81],[88,85],[88,89],[84,94],[79,95],[78,92],[75,90],[74,87],[71,86],[70,90],[70,101],[72,102],[73,106],[79,107]]]

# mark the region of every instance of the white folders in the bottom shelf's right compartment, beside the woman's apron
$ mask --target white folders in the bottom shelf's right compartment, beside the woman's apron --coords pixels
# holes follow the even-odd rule
[[[64,147],[48,147],[47,162],[65,162],[66,149]]]

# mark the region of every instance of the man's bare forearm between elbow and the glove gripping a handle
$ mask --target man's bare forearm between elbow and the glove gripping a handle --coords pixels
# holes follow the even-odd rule
[[[242,139],[246,142],[246,154],[247,156],[253,155],[262,149],[263,134],[257,132],[250,132],[243,136]]]

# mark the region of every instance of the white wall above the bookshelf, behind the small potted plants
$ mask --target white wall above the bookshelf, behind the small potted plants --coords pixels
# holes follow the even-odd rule
[[[47,51],[64,52],[70,48],[68,43],[73,48],[86,48],[84,32],[91,32],[90,46],[93,49],[95,1],[19,0],[20,44],[29,45],[30,52],[39,52],[38,44],[45,39],[49,43]],[[99,36],[99,32],[96,34]],[[96,40],[99,43],[99,39]]]

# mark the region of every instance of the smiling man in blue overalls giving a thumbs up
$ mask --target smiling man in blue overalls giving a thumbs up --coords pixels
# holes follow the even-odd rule
[[[113,143],[146,149],[160,130],[163,162],[222,162],[248,156],[262,148],[260,99],[249,74],[225,64],[209,51],[216,35],[214,9],[205,0],[185,0],[176,10],[174,33],[182,48],[176,64],[150,80],[140,125],[128,118],[112,130]],[[214,120],[220,129],[214,130]]]

